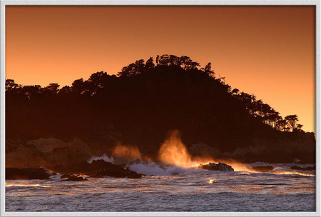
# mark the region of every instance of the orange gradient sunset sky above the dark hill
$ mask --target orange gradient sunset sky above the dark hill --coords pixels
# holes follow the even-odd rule
[[[6,6],[6,79],[71,85],[190,56],[315,131],[315,6]]]

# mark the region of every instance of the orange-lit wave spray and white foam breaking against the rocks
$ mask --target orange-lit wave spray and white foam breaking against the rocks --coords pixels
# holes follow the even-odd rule
[[[143,156],[136,146],[123,145],[118,143],[113,149],[112,156],[108,157],[104,153],[102,156],[93,156],[87,162],[92,163],[94,160],[103,160],[129,168],[136,173],[143,173],[147,176],[173,176],[178,174],[195,174],[195,173],[217,173],[226,170],[216,171],[205,169],[202,165],[208,163],[223,163],[231,166],[236,173],[274,173],[275,175],[300,175],[315,176],[313,173],[303,173],[302,171],[293,171],[292,168],[281,166],[280,168],[270,166],[269,163],[240,163],[231,158],[215,159],[211,156],[192,156],[188,148],[181,139],[178,130],[169,131],[167,138],[161,144],[158,151],[158,157],[152,159]],[[264,164],[264,165],[263,165]]]

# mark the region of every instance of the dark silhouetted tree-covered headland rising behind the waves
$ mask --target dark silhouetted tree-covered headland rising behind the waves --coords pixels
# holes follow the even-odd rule
[[[6,80],[7,167],[70,166],[118,143],[156,159],[173,129],[193,156],[315,162],[315,135],[296,115],[282,118],[188,56],[141,59],[117,76],[99,71],[59,87]]]

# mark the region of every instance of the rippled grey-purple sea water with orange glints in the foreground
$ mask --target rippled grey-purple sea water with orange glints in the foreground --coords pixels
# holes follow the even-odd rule
[[[6,211],[315,211],[314,171],[290,170],[299,164],[269,165],[273,172],[159,171],[150,166],[146,173],[161,176],[10,180]]]

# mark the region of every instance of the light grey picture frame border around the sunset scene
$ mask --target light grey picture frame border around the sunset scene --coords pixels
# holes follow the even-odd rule
[[[6,6],[315,6],[315,138],[316,176],[315,212],[6,212],[5,211],[5,71],[6,71]],[[2,0],[1,16],[1,68],[0,68],[0,216],[321,216],[320,194],[320,0]]]

